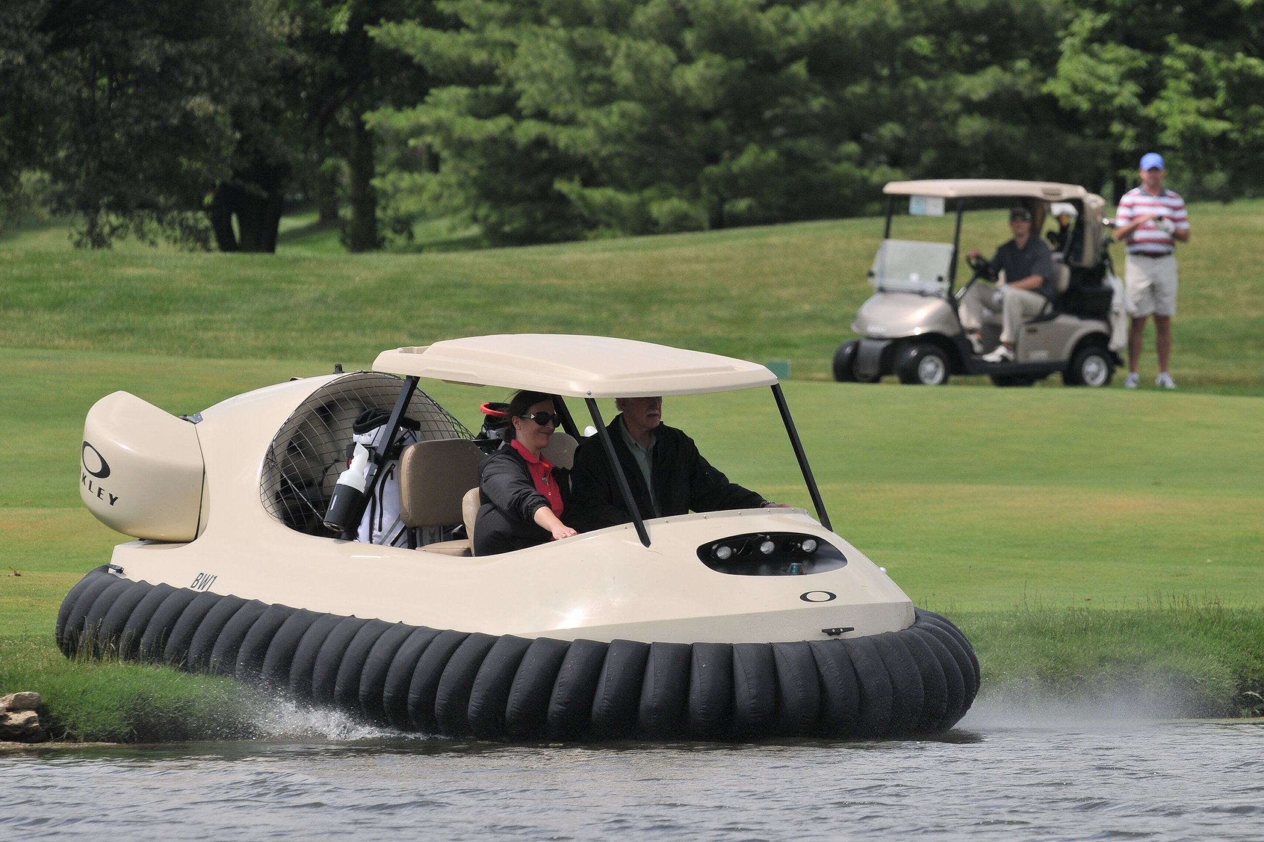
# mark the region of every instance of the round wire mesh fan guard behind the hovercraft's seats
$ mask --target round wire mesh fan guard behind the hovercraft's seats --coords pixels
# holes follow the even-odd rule
[[[334,485],[346,468],[351,425],[365,410],[393,410],[401,388],[403,378],[394,374],[354,372],[326,383],[300,403],[263,458],[259,492],[268,513],[292,530],[337,537],[324,520]],[[413,392],[406,415],[420,425],[423,441],[474,437],[421,389]]]

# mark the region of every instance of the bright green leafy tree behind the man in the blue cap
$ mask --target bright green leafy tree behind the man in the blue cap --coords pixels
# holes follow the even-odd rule
[[[1163,150],[1192,196],[1264,187],[1264,6],[1079,0],[1047,90],[1111,149],[1115,196]]]

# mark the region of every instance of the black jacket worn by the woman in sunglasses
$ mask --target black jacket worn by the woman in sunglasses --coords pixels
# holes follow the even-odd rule
[[[571,508],[570,472],[554,468],[554,482],[561,492],[566,526],[584,518]],[[483,460],[478,475],[482,506],[474,521],[474,555],[497,555],[544,544],[551,536],[535,521],[536,509],[549,506],[549,498],[536,491],[527,460],[512,445],[504,445]]]

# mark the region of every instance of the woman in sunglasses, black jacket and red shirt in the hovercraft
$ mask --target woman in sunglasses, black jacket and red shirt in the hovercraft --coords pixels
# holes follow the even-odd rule
[[[561,521],[570,502],[570,472],[541,455],[561,421],[552,397],[518,392],[506,410],[508,442],[483,460],[474,521],[474,555],[495,555],[575,535]]]

